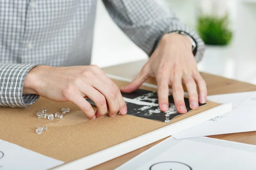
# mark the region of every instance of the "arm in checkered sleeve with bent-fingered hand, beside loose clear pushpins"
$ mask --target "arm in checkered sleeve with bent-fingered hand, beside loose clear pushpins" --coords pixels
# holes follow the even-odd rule
[[[127,113],[119,88],[96,65],[0,64],[0,107],[26,108],[39,96],[55,102],[72,102],[89,119],[100,117],[108,110],[111,117],[118,111],[123,115]],[[96,104],[96,112],[84,98]]]

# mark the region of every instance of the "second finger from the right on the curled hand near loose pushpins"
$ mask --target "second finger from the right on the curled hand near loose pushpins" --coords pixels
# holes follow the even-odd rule
[[[120,105],[119,105],[119,99],[116,92],[116,89],[113,88],[113,86],[108,85],[105,81],[103,81],[100,78],[95,78],[92,81],[90,81],[90,85],[92,85],[94,88],[96,88],[101,94],[105,96],[108,102],[109,107],[109,116],[113,117],[116,115],[116,113],[119,111]]]

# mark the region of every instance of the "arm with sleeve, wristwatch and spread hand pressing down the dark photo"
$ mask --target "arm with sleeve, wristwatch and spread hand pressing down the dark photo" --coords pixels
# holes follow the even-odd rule
[[[204,52],[204,42],[194,30],[181,23],[169,10],[161,8],[156,0],[103,0],[117,25],[142,48],[150,58],[133,81],[121,88],[130,93],[149,77],[157,81],[158,103],[161,111],[169,110],[169,86],[179,113],[186,113],[184,89],[189,94],[189,106],[198,108],[206,102],[207,87],[197,62]],[[176,34],[176,31],[187,35]],[[192,51],[192,37],[197,45]],[[197,92],[197,86],[198,91]]]

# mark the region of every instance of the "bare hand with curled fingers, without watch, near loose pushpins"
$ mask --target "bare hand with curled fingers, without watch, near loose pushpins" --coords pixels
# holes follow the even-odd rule
[[[23,94],[38,94],[56,102],[73,102],[89,118],[95,119],[107,113],[116,116],[127,113],[125,101],[114,82],[96,65],[50,67],[36,66],[26,76]],[[90,103],[95,102],[94,112]]]

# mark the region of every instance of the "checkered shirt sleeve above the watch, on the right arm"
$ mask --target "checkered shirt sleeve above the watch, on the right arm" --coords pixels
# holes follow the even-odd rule
[[[205,48],[203,40],[156,0],[103,0],[103,3],[119,28],[148,56],[164,34],[183,31],[195,40],[195,59],[197,62],[201,60]]]

